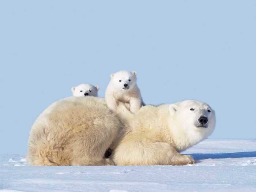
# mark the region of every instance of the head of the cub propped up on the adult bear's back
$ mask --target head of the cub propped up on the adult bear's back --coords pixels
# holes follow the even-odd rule
[[[114,87],[121,91],[131,90],[136,85],[137,72],[119,71],[111,74],[111,83]]]

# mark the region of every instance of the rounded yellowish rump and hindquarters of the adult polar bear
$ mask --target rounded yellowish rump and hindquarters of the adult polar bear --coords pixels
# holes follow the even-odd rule
[[[27,159],[30,165],[114,165],[104,158],[121,121],[105,100],[69,97],[50,105],[33,124]]]

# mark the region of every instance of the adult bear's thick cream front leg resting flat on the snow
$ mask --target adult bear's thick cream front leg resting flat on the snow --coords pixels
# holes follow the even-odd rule
[[[126,140],[110,156],[116,165],[188,165],[195,163],[190,155],[181,155],[165,142]]]

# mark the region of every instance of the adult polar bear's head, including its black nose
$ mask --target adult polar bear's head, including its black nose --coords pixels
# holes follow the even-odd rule
[[[176,125],[173,132],[177,138],[188,138],[188,145],[207,138],[215,128],[215,112],[206,103],[186,100],[171,104],[169,112]]]

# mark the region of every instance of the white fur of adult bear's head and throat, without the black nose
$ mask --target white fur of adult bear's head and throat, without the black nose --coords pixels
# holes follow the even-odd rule
[[[170,105],[169,110],[171,116],[169,127],[178,151],[184,151],[199,143],[207,138],[215,128],[215,112],[206,103],[185,100]],[[201,116],[208,118],[207,128],[195,126]]]

